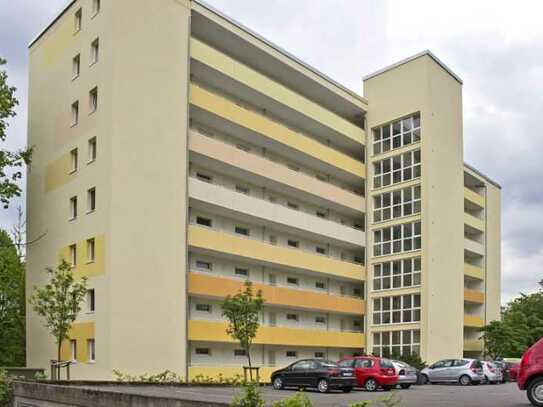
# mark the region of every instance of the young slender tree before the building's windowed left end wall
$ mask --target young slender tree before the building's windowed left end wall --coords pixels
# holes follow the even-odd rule
[[[72,267],[62,260],[53,269],[47,268],[50,281],[44,287],[34,287],[30,304],[45,319],[45,327],[55,338],[60,361],[62,342],[69,339],[69,331],[81,310],[81,301],[87,293],[87,278],[76,281]]]

